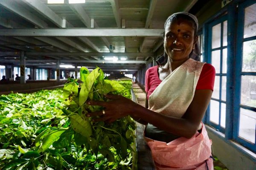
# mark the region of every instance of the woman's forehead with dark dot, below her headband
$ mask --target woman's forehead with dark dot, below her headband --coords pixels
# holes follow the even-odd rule
[[[166,23],[165,31],[169,31],[175,28],[179,28],[180,30],[186,30],[186,31],[195,31],[192,21],[184,20],[184,19],[178,19],[178,20],[170,20]]]

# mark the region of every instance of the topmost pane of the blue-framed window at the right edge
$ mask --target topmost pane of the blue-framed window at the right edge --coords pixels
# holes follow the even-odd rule
[[[244,10],[244,38],[256,35],[256,3]]]

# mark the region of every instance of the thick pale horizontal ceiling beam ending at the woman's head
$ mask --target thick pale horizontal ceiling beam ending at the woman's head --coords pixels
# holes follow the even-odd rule
[[[95,29],[0,29],[0,36],[17,37],[160,37],[163,29],[95,28]]]

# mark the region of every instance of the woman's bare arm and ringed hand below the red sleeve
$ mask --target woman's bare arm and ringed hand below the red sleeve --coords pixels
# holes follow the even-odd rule
[[[151,111],[125,97],[118,95],[107,95],[110,102],[90,101],[90,105],[100,105],[105,107],[105,115],[102,111],[89,113],[87,116],[102,116],[94,119],[95,121],[113,122],[120,117],[131,115],[135,120],[141,119],[151,123],[161,130],[177,136],[191,138],[203,119],[212,90],[196,90],[194,98],[182,118],[161,115]]]

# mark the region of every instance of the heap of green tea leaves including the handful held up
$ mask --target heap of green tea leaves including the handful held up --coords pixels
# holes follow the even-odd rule
[[[103,94],[131,97],[129,89],[104,79],[100,68],[81,68],[80,80],[62,89],[0,96],[1,170],[130,170],[135,122],[92,122],[88,112],[103,108],[87,100]],[[130,87],[131,88],[131,87]]]

